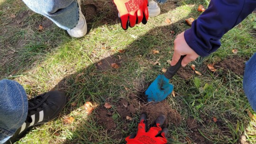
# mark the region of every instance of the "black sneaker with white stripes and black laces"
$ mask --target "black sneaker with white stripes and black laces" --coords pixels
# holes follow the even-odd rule
[[[66,104],[64,92],[49,91],[28,100],[27,119],[6,142],[13,144],[22,138],[33,126],[40,126],[56,118]]]

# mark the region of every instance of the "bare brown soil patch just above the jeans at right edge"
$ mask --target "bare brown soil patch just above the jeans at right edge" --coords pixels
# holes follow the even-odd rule
[[[245,62],[247,58],[234,57],[227,58],[219,63],[215,64],[216,68],[222,68],[224,72],[232,71],[238,75],[244,74]]]

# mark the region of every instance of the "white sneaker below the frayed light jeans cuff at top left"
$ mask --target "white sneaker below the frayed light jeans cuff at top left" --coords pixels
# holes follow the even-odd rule
[[[67,33],[72,36],[72,37],[82,37],[85,36],[87,33],[87,24],[86,24],[86,20],[82,14],[82,10],[81,10],[81,0],[77,0],[78,6],[79,6],[79,21],[78,24],[70,29],[67,30]]]

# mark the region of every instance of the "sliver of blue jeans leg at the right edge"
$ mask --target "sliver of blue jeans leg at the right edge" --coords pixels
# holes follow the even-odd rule
[[[252,109],[256,111],[256,53],[246,62],[243,88]]]

